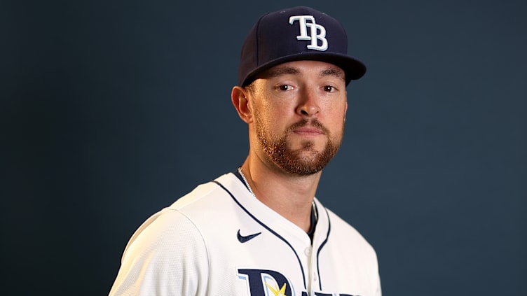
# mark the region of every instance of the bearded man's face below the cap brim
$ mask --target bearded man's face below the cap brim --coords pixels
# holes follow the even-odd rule
[[[342,142],[348,108],[343,70],[288,62],[264,72],[250,88],[256,154],[289,174],[322,170]]]

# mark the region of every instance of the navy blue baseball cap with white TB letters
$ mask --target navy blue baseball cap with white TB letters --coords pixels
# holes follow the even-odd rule
[[[345,84],[361,78],[366,66],[348,55],[348,37],[333,17],[306,6],[266,13],[245,37],[238,68],[240,86],[285,62],[315,60],[339,66]]]

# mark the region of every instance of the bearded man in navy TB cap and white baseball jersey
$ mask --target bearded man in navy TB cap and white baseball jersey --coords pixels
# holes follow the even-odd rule
[[[366,71],[347,42],[312,8],[259,18],[231,92],[247,159],[146,220],[110,295],[381,295],[374,249],[315,198]]]

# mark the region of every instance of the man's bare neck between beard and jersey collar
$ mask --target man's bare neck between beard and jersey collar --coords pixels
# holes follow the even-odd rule
[[[293,176],[267,169],[248,157],[242,165],[242,174],[256,199],[302,230],[307,232],[310,229],[311,206],[320,171],[310,176]]]

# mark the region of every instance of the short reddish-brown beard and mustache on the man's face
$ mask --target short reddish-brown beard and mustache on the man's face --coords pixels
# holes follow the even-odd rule
[[[265,125],[263,125],[263,122],[257,113],[255,113],[254,121],[256,136],[258,137],[260,145],[268,159],[289,174],[308,176],[321,171],[336,155],[338,148],[340,148],[342,143],[344,126],[340,131],[341,134],[336,138],[336,141],[333,141],[329,130],[316,119],[308,120],[304,118],[303,120],[294,123],[286,130],[283,136],[272,136],[271,132],[269,132]],[[292,148],[288,146],[287,136],[291,134],[294,129],[306,125],[317,127],[327,136],[327,143],[322,151],[316,151],[314,148],[314,142],[309,140],[303,141],[301,143],[301,148],[296,150],[292,150]]]

